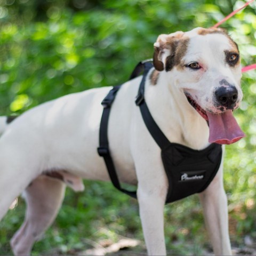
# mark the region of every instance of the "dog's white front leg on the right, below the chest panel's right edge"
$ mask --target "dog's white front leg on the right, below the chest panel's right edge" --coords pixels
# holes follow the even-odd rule
[[[223,167],[199,197],[215,255],[231,255],[228,233],[228,204],[223,188]]]

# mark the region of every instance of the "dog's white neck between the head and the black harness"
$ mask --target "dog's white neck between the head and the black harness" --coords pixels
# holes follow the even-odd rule
[[[175,81],[171,81],[170,75],[162,71],[154,85],[151,72],[146,81],[145,97],[151,115],[165,136],[170,142],[193,149],[207,147],[209,127],[206,121],[191,107],[183,91],[175,86]]]

